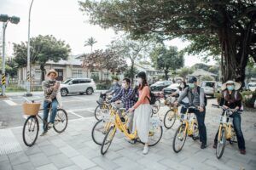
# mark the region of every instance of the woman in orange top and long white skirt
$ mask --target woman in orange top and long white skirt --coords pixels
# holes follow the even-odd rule
[[[150,91],[145,72],[142,71],[137,74],[137,82],[139,82],[139,99],[137,100],[137,103],[129,109],[129,111],[134,111],[133,132],[137,129],[137,135],[144,143],[143,154],[148,154],[149,118],[152,113],[152,108],[149,104]]]

